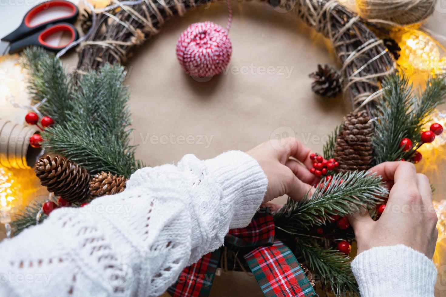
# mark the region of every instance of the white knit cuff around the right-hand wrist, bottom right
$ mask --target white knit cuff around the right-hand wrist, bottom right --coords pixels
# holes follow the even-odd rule
[[[403,244],[362,252],[351,262],[351,269],[362,297],[434,296],[434,262]]]

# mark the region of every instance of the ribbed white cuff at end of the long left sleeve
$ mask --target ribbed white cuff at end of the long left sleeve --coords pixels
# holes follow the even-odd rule
[[[229,228],[247,226],[262,203],[268,186],[263,169],[242,151],[228,151],[205,163],[209,174],[220,185],[223,197],[233,205],[234,214]]]

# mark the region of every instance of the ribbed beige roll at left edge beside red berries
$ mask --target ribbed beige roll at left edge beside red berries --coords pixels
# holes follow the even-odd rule
[[[29,138],[39,131],[36,126],[0,119],[0,165],[17,169],[33,167],[42,150],[30,146]]]

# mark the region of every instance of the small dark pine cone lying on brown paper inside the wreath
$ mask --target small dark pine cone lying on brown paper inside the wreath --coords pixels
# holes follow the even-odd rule
[[[324,97],[336,97],[342,91],[342,76],[335,68],[325,65],[318,65],[318,71],[310,73],[314,78],[311,83],[311,90]]]

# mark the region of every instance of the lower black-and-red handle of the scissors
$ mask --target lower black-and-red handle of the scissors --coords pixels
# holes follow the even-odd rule
[[[57,53],[61,49],[63,49],[66,45],[61,46],[54,46],[50,45],[47,42],[45,42],[45,39],[49,37],[50,35],[53,35],[54,33],[60,32],[60,31],[66,31],[69,32],[71,35],[70,41],[68,41],[68,44],[78,39],[79,34],[76,28],[72,24],[69,23],[58,23],[54,25],[49,25],[47,28],[45,28],[42,31],[36,32],[32,35],[29,35],[23,39],[20,39],[18,41],[12,42],[10,44],[9,53],[17,53],[20,52],[22,49],[25,49],[25,47],[28,47],[30,45],[38,45],[42,48]]]

